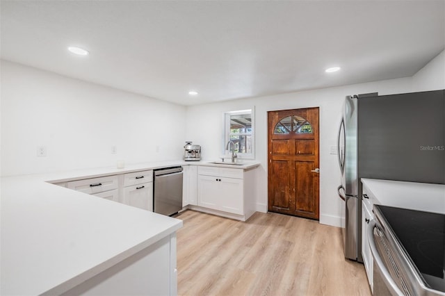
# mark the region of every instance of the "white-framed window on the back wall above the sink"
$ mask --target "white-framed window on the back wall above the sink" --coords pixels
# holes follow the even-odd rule
[[[240,158],[254,158],[254,109],[226,112],[224,114],[223,154],[227,143],[234,143],[234,150]]]

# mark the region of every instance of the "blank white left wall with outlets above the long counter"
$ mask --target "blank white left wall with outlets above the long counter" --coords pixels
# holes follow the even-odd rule
[[[181,159],[185,118],[184,106],[1,60],[2,176]]]

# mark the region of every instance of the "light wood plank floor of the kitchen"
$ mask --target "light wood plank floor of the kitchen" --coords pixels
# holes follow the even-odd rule
[[[371,295],[364,265],[343,257],[337,227],[276,213],[177,218],[179,295]]]

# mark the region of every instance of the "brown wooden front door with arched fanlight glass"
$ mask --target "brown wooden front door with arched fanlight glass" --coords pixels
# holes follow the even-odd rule
[[[318,220],[318,107],[268,112],[268,211]]]

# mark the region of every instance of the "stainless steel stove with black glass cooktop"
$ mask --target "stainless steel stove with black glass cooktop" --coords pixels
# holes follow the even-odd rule
[[[445,296],[445,215],[373,207],[374,295]]]

